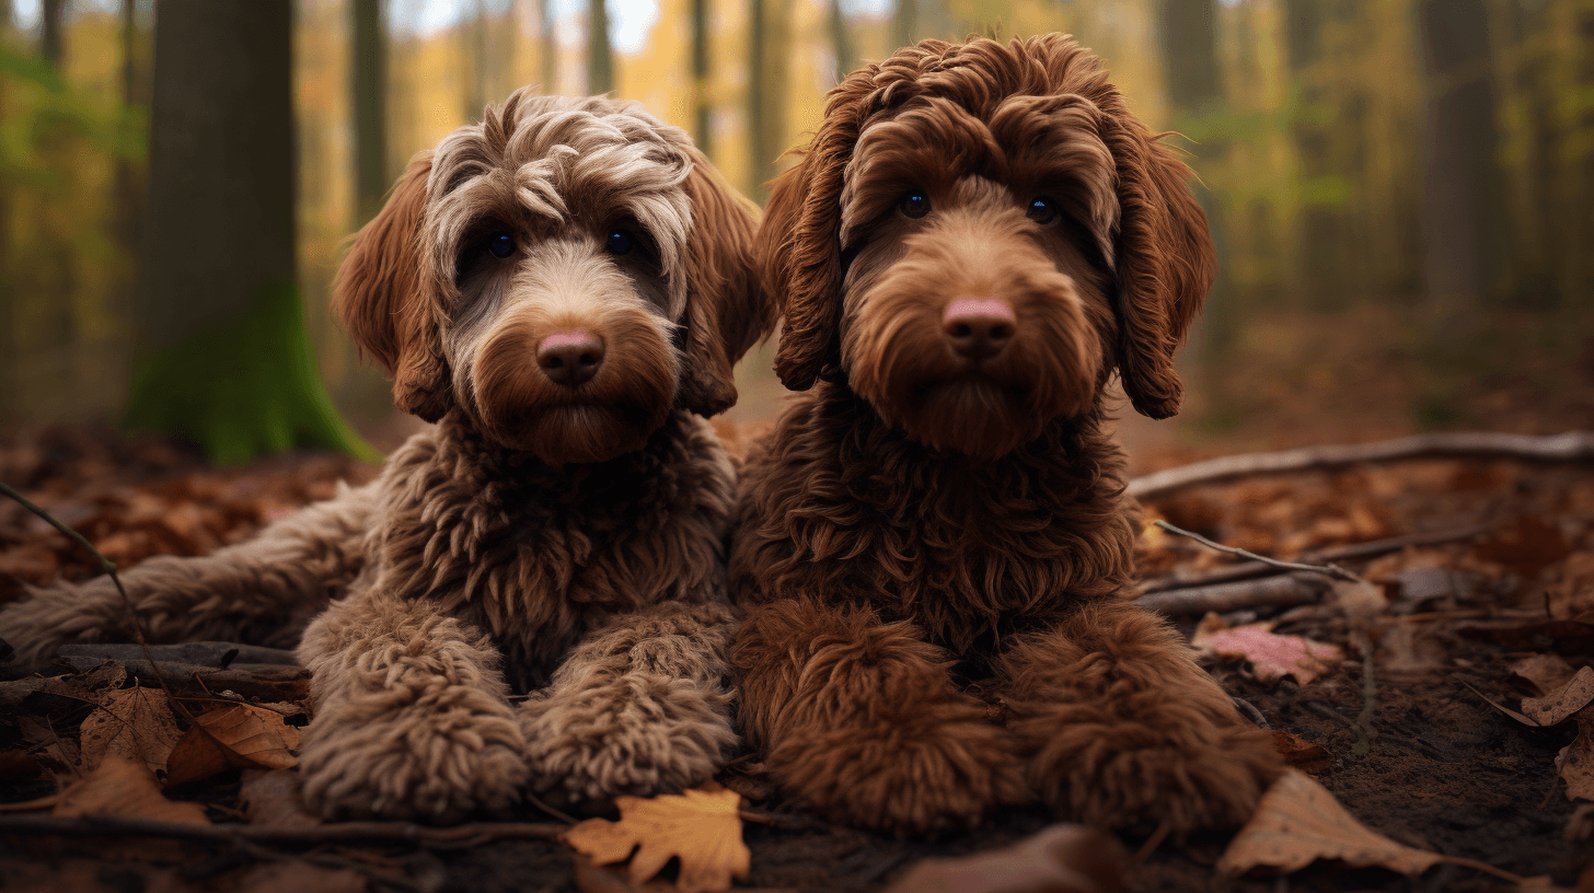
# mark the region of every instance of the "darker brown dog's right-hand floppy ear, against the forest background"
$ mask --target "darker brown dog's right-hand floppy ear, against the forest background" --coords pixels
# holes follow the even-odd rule
[[[1173,352],[1216,276],[1207,215],[1189,169],[1117,104],[1101,134],[1117,167],[1117,370],[1141,415],[1180,411]]]

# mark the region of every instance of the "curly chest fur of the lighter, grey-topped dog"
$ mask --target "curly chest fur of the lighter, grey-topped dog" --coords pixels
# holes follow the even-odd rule
[[[676,413],[642,450],[552,469],[457,413],[387,462],[373,585],[437,600],[488,631],[531,689],[607,617],[724,598],[735,472],[708,423]]]

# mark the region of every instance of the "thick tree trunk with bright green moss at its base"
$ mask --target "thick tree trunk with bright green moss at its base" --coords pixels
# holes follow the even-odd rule
[[[212,461],[375,458],[320,384],[295,285],[289,0],[161,0],[128,424]]]

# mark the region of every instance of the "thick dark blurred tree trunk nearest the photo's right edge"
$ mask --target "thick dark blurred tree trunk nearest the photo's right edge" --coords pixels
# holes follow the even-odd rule
[[[1482,0],[1423,0],[1422,254],[1428,308],[1443,338],[1478,324],[1487,293],[1494,182],[1494,89]]]

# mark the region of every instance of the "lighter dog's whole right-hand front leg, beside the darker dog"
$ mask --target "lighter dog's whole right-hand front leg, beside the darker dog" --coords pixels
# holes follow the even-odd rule
[[[724,604],[666,601],[611,619],[520,710],[532,785],[561,802],[681,791],[736,743]]]

